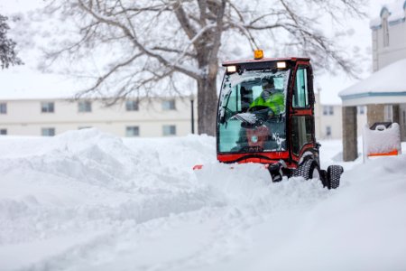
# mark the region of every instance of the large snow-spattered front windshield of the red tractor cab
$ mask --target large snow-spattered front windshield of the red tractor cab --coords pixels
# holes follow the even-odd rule
[[[245,70],[226,75],[218,111],[220,153],[286,150],[289,70]]]

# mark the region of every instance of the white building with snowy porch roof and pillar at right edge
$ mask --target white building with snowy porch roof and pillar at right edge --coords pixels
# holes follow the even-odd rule
[[[367,106],[368,125],[396,122],[406,141],[406,1],[384,5],[371,22],[374,73],[340,92],[344,106],[345,161],[357,157],[356,107]],[[359,135],[359,134],[358,134]]]

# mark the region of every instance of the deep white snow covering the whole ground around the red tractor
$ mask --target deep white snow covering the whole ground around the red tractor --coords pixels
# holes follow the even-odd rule
[[[208,136],[88,129],[0,150],[0,270],[406,270],[406,155],[339,163],[328,191],[252,165],[197,178]],[[324,168],[340,150],[322,142]]]

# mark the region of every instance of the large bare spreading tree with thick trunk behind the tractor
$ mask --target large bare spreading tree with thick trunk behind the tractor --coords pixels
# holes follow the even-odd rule
[[[48,10],[64,15],[66,22],[78,28],[73,38],[60,42],[59,50],[49,51],[49,57],[78,60],[95,51],[114,52],[98,63],[102,68],[93,84],[78,93],[81,97],[108,92],[115,97],[112,103],[134,93],[148,95],[158,82],[165,89],[179,90],[180,75],[186,76],[197,84],[198,133],[214,135],[222,41],[252,50],[258,44],[272,44],[309,56],[318,66],[337,65],[352,72],[346,55],[317,27],[320,11],[333,19],[362,15],[358,10],[362,2],[58,0]]]

